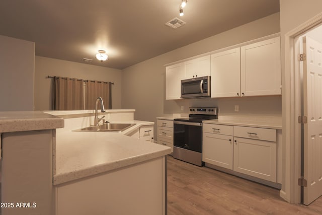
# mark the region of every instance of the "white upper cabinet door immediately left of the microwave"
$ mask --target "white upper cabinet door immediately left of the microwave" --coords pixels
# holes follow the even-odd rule
[[[181,98],[181,80],[184,79],[183,63],[166,68],[166,99]]]

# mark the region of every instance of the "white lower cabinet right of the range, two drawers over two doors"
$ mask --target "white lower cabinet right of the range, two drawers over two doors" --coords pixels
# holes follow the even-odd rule
[[[203,123],[202,161],[277,181],[276,129]]]

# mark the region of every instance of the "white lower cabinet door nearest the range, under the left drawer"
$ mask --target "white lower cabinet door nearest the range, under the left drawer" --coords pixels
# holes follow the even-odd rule
[[[232,170],[232,153],[232,136],[203,132],[203,162]]]

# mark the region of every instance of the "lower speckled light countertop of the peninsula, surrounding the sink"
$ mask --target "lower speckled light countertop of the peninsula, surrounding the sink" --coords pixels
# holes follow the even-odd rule
[[[137,126],[140,124],[135,122]],[[153,123],[142,122],[140,125],[148,124]],[[138,140],[124,135],[124,132],[70,131],[57,135],[54,185],[171,153],[169,147]]]

